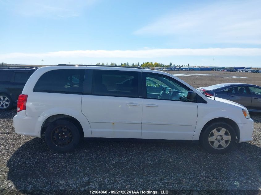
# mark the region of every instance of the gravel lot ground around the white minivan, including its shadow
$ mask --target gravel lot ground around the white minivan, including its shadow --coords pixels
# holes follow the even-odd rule
[[[241,75],[248,78],[217,75],[216,80],[217,83],[261,83],[258,73],[171,72]],[[179,78],[200,87],[214,84],[212,77]],[[76,151],[59,154],[50,151],[40,138],[15,134],[15,114],[15,109],[0,113],[1,194],[53,194],[60,189],[71,190],[62,191],[68,194],[81,194],[88,192],[87,189],[174,189],[179,194],[193,195],[261,194],[259,113],[250,113],[255,121],[253,141],[236,144],[232,152],[224,155],[209,154],[197,144],[87,140]]]

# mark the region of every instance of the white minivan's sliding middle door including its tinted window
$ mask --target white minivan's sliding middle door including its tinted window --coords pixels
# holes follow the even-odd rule
[[[141,138],[141,71],[86,70],[82,113],[92,137]],[[90,74],[92,72],[92,74]],[[140,85],[140,87],[138,87]]]

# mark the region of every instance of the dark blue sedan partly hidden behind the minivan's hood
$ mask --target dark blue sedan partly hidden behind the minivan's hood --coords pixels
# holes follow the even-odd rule
[[[249,111],[261,112],[261,87],[246,83],[221,83],[197,88],[204,95],[220,97],[245,106]]]

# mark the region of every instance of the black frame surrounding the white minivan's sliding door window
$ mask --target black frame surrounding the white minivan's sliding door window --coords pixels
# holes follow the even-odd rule
[[[106,72],[126,72],[132,73],[137,72],[138,75],[138,97],[131,96],[119,96],[119,95],[98,95],[92,93],[92,82],[93,82],[93,72],[94,71],[106,71]],[[98,95],[98,96],[109,96],[109,97],[126,97],[126,98],[142,98],[142,81],[141,81],[141,71],[122,71],[122,70],[106,70],[106,69],[86,69],[85,79],[83,83],[83,95]]]

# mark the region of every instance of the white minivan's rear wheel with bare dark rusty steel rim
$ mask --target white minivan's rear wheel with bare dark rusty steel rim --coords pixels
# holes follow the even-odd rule
[[[56,152],[73,151],[79,140],[78,128],[68,120],[56,120],[45,131],[46,144]]]

